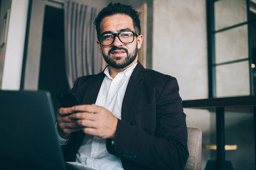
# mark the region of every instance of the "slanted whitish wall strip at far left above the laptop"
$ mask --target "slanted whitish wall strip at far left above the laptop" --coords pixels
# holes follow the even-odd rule
[[[1,89],[20,88],[27,14],[28,0],[12,0]]]

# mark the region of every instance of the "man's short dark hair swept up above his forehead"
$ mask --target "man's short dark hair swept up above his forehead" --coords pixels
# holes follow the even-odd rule
[[[102,11],[100,11],[100,13],[95,18],[94,24],[96,26],[97,35],[100,35],[100,22],[102,21],[102,19],[105,18],[106,16],[112,16],[118,13],[126,14],[127,16],[130,16],[134,23],[134,28],[136,32],[138,33],[138,35],[141,34],[139,13],[135,11],[132,6],[127,6],[120,3],[117,3],[117,4],[110,3],[105,8],[102,8]]]

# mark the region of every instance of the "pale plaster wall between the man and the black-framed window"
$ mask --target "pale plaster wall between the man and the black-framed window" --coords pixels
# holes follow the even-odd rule
[[[205,0],[154,0],[153,69],[178,79],[183,100],[208,98]],[[210,142],[208,111],[185,109],[187,125]],[[203,166],[210,159],[203,149]]]

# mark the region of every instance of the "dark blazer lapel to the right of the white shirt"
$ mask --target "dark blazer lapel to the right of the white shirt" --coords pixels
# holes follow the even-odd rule
[[[142,84],[142,79],[144,73],[144,67],[138,62],[137,66],[132,72],[129,79],[127,89],[124,94],[124,100],[122,103],[122,120],[130,123],[132,120],[132,115],[134,114],[134,106],[137,103],[137,95],[139,94],[139,89]]]

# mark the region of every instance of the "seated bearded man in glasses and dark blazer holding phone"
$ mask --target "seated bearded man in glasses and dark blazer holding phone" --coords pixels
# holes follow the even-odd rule
[[[75,81],[72,91],[82,105],[59,109],[66,161],[92,169],[183,169],[187,130],[178,84],[138,62],[137,11],[109,4],[95,25],[108,67]]]

